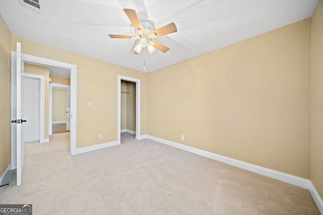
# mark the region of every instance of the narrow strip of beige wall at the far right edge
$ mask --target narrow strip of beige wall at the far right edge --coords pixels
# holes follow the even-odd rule
[[[311,32],[311,181],[323,199],[323,1],[312,16]]]

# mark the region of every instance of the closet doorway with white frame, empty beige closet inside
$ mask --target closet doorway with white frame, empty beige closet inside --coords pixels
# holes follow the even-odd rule
[[[123,100],[123,103],[121,100]],[[129,109],[127,108],[128,105],[129,105]],[[128,111],[129,111],[129,114],[127,114]],[[128,125],[127,125],[127,120],[128,120]],[[119,144],[121,143],[122,131],[123,132],[127,131],[129,133],[135,134],[136,139],[141,138],[140,137],[140,80],[119,75],[118,76],[118,142]]]

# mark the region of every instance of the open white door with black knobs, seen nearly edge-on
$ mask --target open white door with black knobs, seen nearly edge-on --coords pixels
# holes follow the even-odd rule
[[[21,185],[22,174],[24,172],[24,62],[21,53],[21,44],[17,42],[17,69],[16,69],[16,140],[17,140],[17,186]],[[13,126],[15,127],[15,126]]]

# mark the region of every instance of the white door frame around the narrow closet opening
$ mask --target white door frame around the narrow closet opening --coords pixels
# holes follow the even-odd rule
[[[121,80],[136,83],[136,139],[140,136],[140,79],[118,75],[118,142],[121,142]]]

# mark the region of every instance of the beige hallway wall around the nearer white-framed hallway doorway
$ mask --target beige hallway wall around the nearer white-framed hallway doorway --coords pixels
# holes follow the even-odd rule
[[[39,66],[39,65],[32,65],[29,63],[25,63],[25,73],[35,74],[39,76],[45,77],[45,108],[44,108],[44,138],[49,138],[48,136],[48,120],[49,120],[49,68]],[[25,98],[28,99],[28,98]]]

